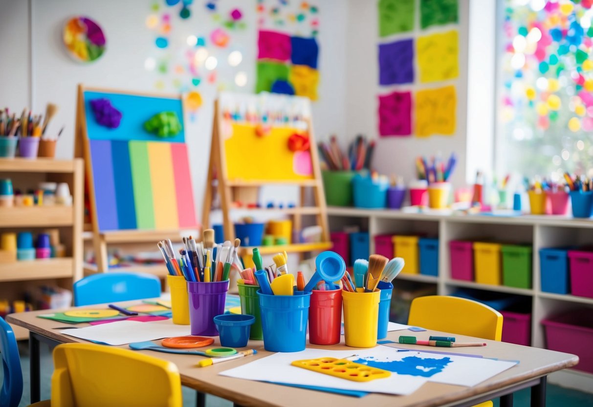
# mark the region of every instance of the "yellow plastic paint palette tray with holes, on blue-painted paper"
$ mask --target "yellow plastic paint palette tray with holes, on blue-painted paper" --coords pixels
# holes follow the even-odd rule
[[[391,376],[391,372],[388,370],[369,367],[346,359],[318,358],[295,360],[291,365],[352,381],[371,381]]]

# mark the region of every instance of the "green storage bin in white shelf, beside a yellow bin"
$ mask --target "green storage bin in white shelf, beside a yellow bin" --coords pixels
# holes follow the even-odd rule
[[[502,248],[502,284],[507,287],[531,288],[531,246],[503,244]]]

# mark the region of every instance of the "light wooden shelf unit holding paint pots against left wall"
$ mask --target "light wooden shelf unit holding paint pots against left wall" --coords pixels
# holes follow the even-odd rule
[[[0,298],[22,298],[25,291],[40,285],[57,285],[72,290],[82,278],[83,163],[80,159],[0,158],[0,177],[12,179],[21,190],[37,189],[40,182],[66,182],[72,194],[72,206],[13,206],[0,208],[0,233],[59,228],[66,256],[0,263]],[[17,339],[27,339],[28,331],[14,327]]]

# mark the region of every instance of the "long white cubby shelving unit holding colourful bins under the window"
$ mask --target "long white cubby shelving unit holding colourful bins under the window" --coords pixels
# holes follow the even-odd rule
[[[540,256],[544,247],[570,246],[593,243],[593,220],[571,217],[523,215],[499,217],[488,215],[449,215],[407,213],[393,209],[358,209],[328,207],[330,230],[341,230],[346,225],[359,225],[369,232],[369,250],[374,252],[374,236],[378,234],[427,234],[439,238],[438,276],[400,274],[397,280],[436,285],[440,295],[448,295],[459,288],[523,295],[531,298],[531,346],[544,348],[544,329],[540,321],[553,314],[575,308],[593,312],[593,298],[553,294],[540,290]],[[478,284],[451,278],[448,242],[451,240],[492,239],[503,243],[533,245],[532,288]],[[397,287],[397,284],[396,284]],[[563,370],[550,377],[554,383],[591,392],[593,374]]]

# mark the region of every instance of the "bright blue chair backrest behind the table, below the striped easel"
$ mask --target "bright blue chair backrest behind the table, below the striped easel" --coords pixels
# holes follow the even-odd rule
[[[74,305],[141,300],[161,295],[157,276],[142,273],[98,273],[74,283]]]

